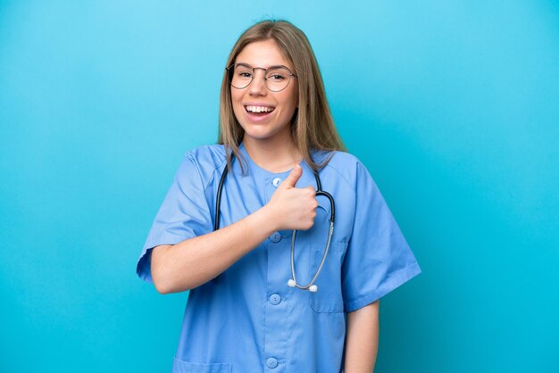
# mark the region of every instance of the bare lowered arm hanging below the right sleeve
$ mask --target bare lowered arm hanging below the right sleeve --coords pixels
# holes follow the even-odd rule
[[[372,373],[379,349],[379,303],[347,313],[346,373]]]

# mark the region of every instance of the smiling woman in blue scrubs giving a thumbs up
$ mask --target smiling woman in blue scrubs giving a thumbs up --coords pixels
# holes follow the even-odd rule
[[[247,29],[220,111],[219,144],[187,153],[138,261],[160,293],[190,290],[173,372],[371,372],[379,299],[421,269],[343,151],[305,34]]]

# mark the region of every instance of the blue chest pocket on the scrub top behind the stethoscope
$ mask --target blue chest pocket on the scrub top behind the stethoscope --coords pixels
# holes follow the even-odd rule
[[[334,227],[336,229],[336,227]],[[309,273],[314,275],[321,265],[322,255],[326,245],[313,244],[311,268]],[[346,243],[330,243],[330,249],[321,273],[316,279],[318,291],[310,293],[310,305],[313,311],[321,313],[337,313],[344,311],[344,299],[342,297],[342,263],[346,255]]]

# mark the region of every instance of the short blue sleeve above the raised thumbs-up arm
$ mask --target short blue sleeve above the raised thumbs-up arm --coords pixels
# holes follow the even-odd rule
[[[151,252],[155,246],[175,245],[213,229],[211,209],[195,162],[191,153],[185,155],[149,231],[136,268],[138,276],[147,282],[153,282]]]

